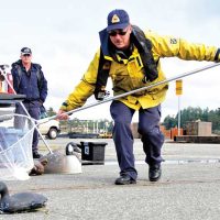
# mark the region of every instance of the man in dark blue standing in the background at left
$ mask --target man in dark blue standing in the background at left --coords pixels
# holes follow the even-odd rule
[[[13,76],[13,88],[15,92],[26,96],[23,106],[33,119],[38,120],[40,109],[47,97],[47,80],[44,77],[41,65],[32,63],[31,48],[23,47],[21,50],[20,59],[12,64],[11,74]],[[15,106],[15,113],[26,114],[20,103]],[[14,123],[16,127],[18,124],[21,125],[22,122],[21,120],[16,120]],[[42,156],[38,153],[37,144],[38,133],[35,130],[32,143],[33,158],[40,158]]]

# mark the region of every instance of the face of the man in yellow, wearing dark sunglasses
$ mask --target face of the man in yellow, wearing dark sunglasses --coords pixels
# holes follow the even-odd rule
[[[109,33],[109,37],[112,42],[112,44],[117,48],[128,48],[130,45],[130,34],[131,34],[132,28],[131,25],[127,26],[125,29],[121,30],[112,30]]]

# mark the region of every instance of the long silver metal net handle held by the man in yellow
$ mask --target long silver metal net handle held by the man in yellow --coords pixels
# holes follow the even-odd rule
[[[184,77],[187,77],[187,76],[190,76],[190,75],[194,75],[194,74],[197,74],[199,72],[204,72],[204,70],[207,70],[207,69],[210,69],[210,68],[213,68],[213,67],[217,67],[219,66],[220,63],[215,63],[215,64],[211,64],[211,65],[208,65],[208,66],[205,66],[205,67],[201,67],[201,68],[197,68],[195,70],[191,70],[191,72],[186,72],[184,74],[180,74],[180,75],[177,75],[175,77],[170,77],[168,79],[164,79],[162,81],[157,81],[155,84],[151,84],[148,86],[145,86],[145,87],[142,87],[142,88],[139,88],[139,89],[134,89],[132,91],[128,91],[128,92],[124,92],[124,94],[121,94],[121,95],[118,95],[118,96],[114,96],[114,97],[109,97],[109,98],[106,98],[103,99],[102,101],[97,101],[97,102],[94,102],[94,103],[90,103],[90,105],[87,105],[87,106],[82,106],[80,108],[77,108],[77,109],[74,109],[74,110],[70,110],[68,112],[65,112],[67,114],[72,114],[72,113],[75,113],[75,112],[78,112],[78,111],[81,111],[81,110],[85,110],[85,109],[89,109],[91,107],[96,107],[96,106],[99,106],[99,105],[102,105],[102,103],[106,103],[106,102],[109,102],[109,101],[112,101],[112,100],[116,100],[116,99],[120,99],[120,98],[123,98],[125,96],[129,96],[129,95],[132,95],[132,94],[135,94],[135,92],[139,92],[139,91],[143,91],[143,90],[146,90],[146,89],[151,89],[155,86],[160,86],[160,85],[163,85],[163,84],[166,84],[166,82],[169,82],[169,81],[174,81],[176,79],[180,79],[180,78],[184,78]],[[38,120],[37,124],[41,124],[41,123],[45,123],[50,120],[53,120],[57,118],[57,116],[53,116],[53,117],[50,117],[50,118],[45,118],[45,119],[42,119],[42,120]]]

